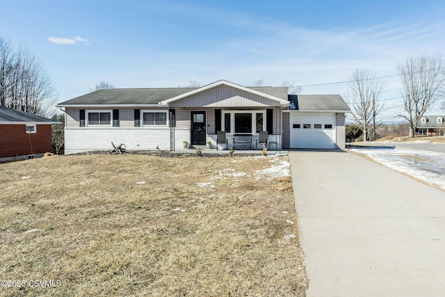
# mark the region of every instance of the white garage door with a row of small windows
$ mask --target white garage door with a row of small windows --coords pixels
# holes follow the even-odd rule
[[[291,113],[291,147],[334,149],[335,113]]]

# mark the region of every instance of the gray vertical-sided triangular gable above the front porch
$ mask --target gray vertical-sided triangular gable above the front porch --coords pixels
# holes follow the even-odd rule
[[[266,97],[238,90],[230,86],[218,86],[204,92],[191,95],[176,102],[171,102],[170,106],[175,107],[268,107],[280,106],[277,102]]]

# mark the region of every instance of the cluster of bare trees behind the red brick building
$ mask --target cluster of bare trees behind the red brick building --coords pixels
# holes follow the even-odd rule
[[[37,115],[46,115],[56,100],[56,90],[42,63],[28,49],[15,50],[0,38],[0,104]]]

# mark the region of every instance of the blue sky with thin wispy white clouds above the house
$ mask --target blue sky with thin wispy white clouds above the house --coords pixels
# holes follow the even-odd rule
[[[100,81],[156,88],[263,79],[346,95],[346,83],[307,85],[348,81],[356,67],[390,76],[409,55],[445,49],[443,1],[8,0],[1,15],[0,35],[40,58],[57,102]],[[383,115],[393,120],[400,78],[385,81]]]

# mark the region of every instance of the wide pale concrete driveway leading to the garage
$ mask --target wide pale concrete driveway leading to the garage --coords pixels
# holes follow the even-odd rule
[[[289,152],[307,296],[444,296],[445,192],[348,152]]]

